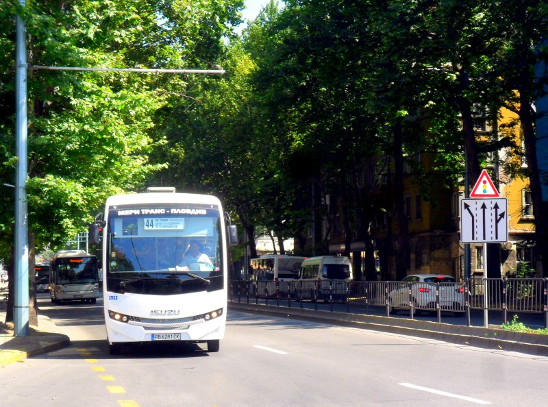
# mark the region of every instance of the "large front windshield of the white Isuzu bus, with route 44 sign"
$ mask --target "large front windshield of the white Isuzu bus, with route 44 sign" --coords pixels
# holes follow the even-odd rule
[[[106,227],[108,291],[174,295],[223,288],[219,208],[119,206]]]

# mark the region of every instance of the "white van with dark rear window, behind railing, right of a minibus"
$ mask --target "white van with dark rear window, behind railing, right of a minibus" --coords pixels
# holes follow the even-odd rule
[[[297,298],[347,301],[353,278],[345,256],[318,256],[303,260],[297,282]]]

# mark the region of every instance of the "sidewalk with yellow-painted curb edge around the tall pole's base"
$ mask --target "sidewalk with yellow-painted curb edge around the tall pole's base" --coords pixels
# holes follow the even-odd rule
[[[69,336],[60,333],[59,329],[45,315],[38,315],[38,326],[29,326],[27,336],[14,336],[13,323],[5,323],[5,312],[8,301],[7,286],[0,286],[0,367],[18,362],[31,356],[47,353],[71,343]]]

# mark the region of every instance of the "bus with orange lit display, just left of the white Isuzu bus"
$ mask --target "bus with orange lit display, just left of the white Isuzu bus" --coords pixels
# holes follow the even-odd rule
[[[84,250],[60,250],[49,262],[51,301],[95,303],[99,298],[97,258]]]

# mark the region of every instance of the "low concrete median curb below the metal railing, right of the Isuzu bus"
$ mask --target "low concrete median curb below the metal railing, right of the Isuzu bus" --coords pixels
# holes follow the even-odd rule
[[[251,312],[303,321],[329,323],[392,334],[435,339],[457,345],[481,347],[523,354],[548,356],[548,335],[510,332],[493,328],[479,328],[431,321],[418,321],[376,315],[348,314],[301,308],[282,308],[263,304],[229,302],[229,310]]]

